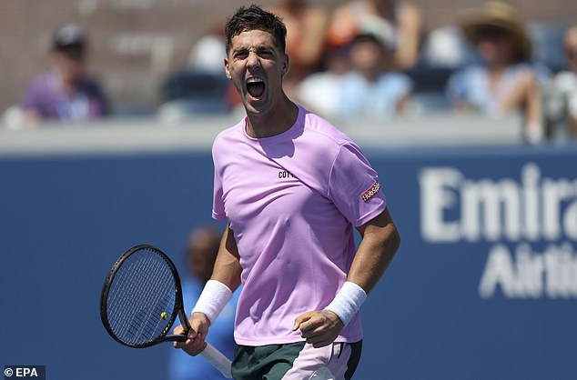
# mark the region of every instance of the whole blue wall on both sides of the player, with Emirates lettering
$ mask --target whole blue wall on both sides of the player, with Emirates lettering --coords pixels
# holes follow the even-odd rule
[[[366,153],[402,245],[363,306],[356,378],[574,378],[577,147]],[[209,153],[4,157],[0,181],[4,365],[165,378],[169,347],[117,345],[98,298],[130,245],[158,245],[182,267],[187,232],[210,223]]]

